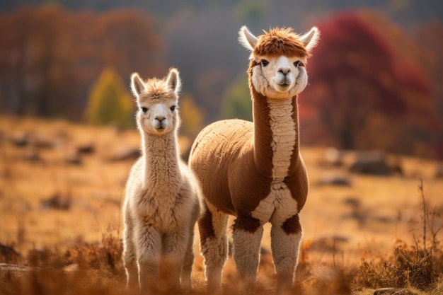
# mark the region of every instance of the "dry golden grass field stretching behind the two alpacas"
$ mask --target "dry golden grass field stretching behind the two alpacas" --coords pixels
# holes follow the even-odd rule
[[[183,138],[180,144],[186,152],[191,141]],[[104,237],[118,241],[125,180],[138,146],[135,130],[0,117],[0,243],[25,256],[30,250],[64,253],[78,245],[99,247]],[[309,276],[330,276],[338,269],[354,272],[361,267],[362,258],[374,263],[386,261],[393,257],[396,245],[413,248],[415,240],[422,243],[421,192],[428,211],[435,212],[427,228],[442,228],[438,213],[443,213],[443,180],[435,177],[435,161],[392,156],[403,173],[359,175],[347,169],[355,152],[344,154],[342,166],[333,166],[326,161],[326,151],[312,147],[301,151],[310,178],[309,198],[300,214],[304,229],[300,267],[306,270],[307,280]],[[344,183],[325,181],[333,178]],[[435,240],[440,241],[441,235],[437,233]],[[431,237],[432,233],[427,233],[428,242]],[[275,280],[269,248],[266,226],[259,271],[263,286]],[[23,259],[20,263],[29,262]],[[118,267],[121,279],[122,265]],[[229,259],[225,280],[235,277],[235,272]],[[193,276],[201,289],[200,255]],[[355,294],[373,293],[353,288]],[[443,288],[442,284],[438,288]],[[436,292],[432,294],[443,294]]]

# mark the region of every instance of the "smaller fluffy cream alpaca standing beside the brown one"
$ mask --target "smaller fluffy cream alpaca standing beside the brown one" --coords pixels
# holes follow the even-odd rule
[[[200,188],[180,159],[177,69],[166,79],[142,81],[131,76],[137,98],[137,126],[142,156],[132,166],[123,207],[123,236],[127,284],[142,294],[159,287],[159,267],[166,270],[167,286],[190,289],[194,226],[200,215]]]

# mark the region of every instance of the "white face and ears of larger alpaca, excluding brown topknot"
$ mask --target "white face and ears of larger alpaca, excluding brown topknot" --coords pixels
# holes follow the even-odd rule
[[[316,46],[319,37],[318,29],[313,27],[304,35],[300,36],[308,52]],[[267,57],[253,54],[258,38],[255,37],[246,26],[239,32],[241,45],[251,50],[250,59],[258,63],[253,68],[252,82],[256,91],[267,98],[292,98],[304,90],[308,83],[306,57]],[[265,63],[263,63],[263,60]],[[267,63],[266,63],[267,62]],[[301,65],[298,65],[298,63]]]

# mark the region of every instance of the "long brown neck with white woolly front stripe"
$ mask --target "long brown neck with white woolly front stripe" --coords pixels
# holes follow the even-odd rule
[[[297,96],[269,99],[252,92],[255,167],[261,175],[280,182],[299,161]]]

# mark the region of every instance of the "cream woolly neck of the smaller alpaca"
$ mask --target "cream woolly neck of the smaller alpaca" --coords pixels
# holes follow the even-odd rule
[[[142,133],[144,180],[149,187],[171,185],[180,178],[180,154],[176,132],[160,136]]]

